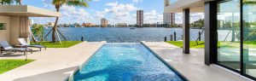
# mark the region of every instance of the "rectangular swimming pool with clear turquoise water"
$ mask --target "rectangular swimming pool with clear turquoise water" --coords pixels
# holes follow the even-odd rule
[[[70,81],[185,81],[142,43],[106,43]]]

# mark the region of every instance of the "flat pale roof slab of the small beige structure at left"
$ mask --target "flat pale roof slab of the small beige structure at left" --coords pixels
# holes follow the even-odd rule
[[[61,13],[29,5],[0,5],[0,15],[27,17],[60,17]]]

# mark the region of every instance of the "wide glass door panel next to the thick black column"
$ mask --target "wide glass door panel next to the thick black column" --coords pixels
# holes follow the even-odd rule
[[[241,70],[240,0],[218,3],[218,64]]]

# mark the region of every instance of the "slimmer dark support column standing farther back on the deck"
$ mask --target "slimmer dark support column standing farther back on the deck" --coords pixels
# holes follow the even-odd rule
[[[183,9],[183,54],[189,54],[189,9]]]

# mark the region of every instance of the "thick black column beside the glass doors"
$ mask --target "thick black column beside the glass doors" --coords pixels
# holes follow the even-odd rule
[[[217,3],[205,3],[205,64],[217,63],[218,55]]]

